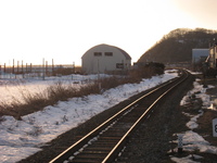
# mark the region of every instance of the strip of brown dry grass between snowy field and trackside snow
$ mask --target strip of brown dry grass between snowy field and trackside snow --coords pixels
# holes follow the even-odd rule
[[[146,72],[150,76],[150,73]],[[101,93],[107,89],[115,88],[119,85],[138,83],[141,80],[141,72],[131,72],[129,76],[101,78],[88,85],[81,86],[79,89],[73,85],[64,85],[59,82],[48,87],[42,92],[29,93],[22,92],[23,102],[14,98],[13,103],[0,103],[0,116],[11,115],[21,120],[23,115],[30,114],[42,110],[47,105],[54,105],[58,101],[67,101],[69,98],[84,97],[91,93]]]

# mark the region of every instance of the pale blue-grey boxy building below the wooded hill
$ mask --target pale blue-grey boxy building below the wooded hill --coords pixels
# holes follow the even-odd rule
[[[209,55],[209,49],[192,49],[192,63],[205,62]]]

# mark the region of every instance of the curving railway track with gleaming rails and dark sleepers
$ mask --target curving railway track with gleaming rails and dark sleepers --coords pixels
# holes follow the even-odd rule
[[[154,112],[155,104],[188,78],[188,73],[171,79],[138,98],[92,131],[50,161],[50,163],[112,162],[140,123]]]

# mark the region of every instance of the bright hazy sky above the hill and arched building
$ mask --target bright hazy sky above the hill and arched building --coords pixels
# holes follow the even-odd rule
[[[217,0],[0,0],[0,64],[81,64],[107,43],[136,62],[176,28],[217,29]]]

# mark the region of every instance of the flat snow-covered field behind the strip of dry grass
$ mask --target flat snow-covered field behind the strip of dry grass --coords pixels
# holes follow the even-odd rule
[[[98,77],[108,77],[110,75],[100,74],[98,75],[68,75],[62,77],[46,77],[42,78],[9,78],[0,79],[0,103],[11,103],[14,100],[23,102],[24,96],[34,95],[37,92],[44,91],[49,86],[62,83],[65,85],[72,84],[75,87],[91,82]]]

